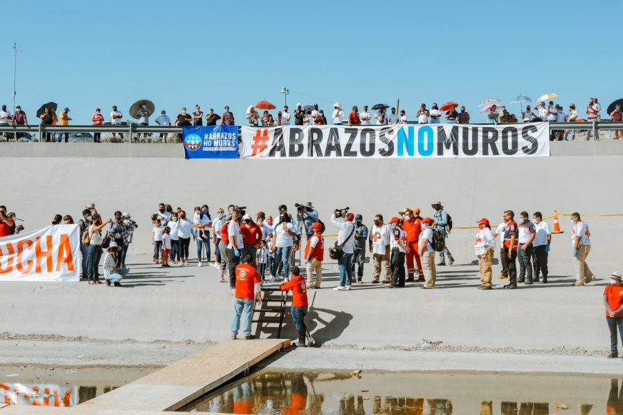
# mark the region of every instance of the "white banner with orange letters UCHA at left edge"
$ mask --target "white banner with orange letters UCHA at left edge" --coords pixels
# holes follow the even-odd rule
[[[0,238],[0,281],[80,281],[78,225]]]

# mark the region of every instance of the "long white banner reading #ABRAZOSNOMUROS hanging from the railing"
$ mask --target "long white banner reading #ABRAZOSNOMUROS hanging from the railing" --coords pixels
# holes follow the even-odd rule
[[[242,127],[241,158],[468,158],[550,155],[547,122]]]

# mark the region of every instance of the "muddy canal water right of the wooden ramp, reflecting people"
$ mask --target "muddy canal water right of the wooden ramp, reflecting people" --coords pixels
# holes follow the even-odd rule
[[[623,414],[623,377],[375,371],[357,376],[345,371],[263,369],[181,410],[283,415],[615,415]]]

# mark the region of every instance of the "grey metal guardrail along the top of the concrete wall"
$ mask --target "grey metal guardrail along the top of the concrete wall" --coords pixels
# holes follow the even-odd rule
[[[435,125],[435,124],[433,124]],[[449,124],[444,124],[449,125]],[[454,124],[460,125],[460,124]],[[477,123],[470,125],[491,125],[487,123]],[[346,127],[346,126],[343,126]],[[356,125],[353,126],[356,128],[365,128],[370,127],[369,125]],[[372,126],[374,127],[374,126]],[[611,122],[611,121],[602,121],[602,122],[550,122],[550,130],[593,130],[593,136],[595,136],[595,131],[599,130],[613,130],[613,129],[623,129],[623,122]],[[239,130],[240,131],[240,130]],[[29,125],[28,127],[11,127],[11,126],[3,126],[0,125],[0,133],[38,133],[39,142],[42,142],[42,134],[45,133],[123,133],[129,134],[128,137],[131,137],[133,134],[152,134],[152,133],[164,133],[164,134],[181,134],[181,127],[174,126],[144,126],[144,125],[69,125],[69,126],[45,126],[41,124],[37,125]],[[239,132],[240,138],[240,132]],[[128,142],[132,142],[132,140],[128,140]]]

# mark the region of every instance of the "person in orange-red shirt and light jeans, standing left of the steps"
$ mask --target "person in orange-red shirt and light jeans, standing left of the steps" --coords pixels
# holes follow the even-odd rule
[[[236,266],[236,291],[234,295],[234,318],[231,322],[231,340],[235,340],[240,329],[240,317],[242,317],[242,331],[244,340],[255,338],[251,334],[251,320],[253,318],[253,308],[255,302],[262,304],[262,286],[260,285],[260,275],[253,268],[251,262],[253,257],[246,255],[243,263]]]

